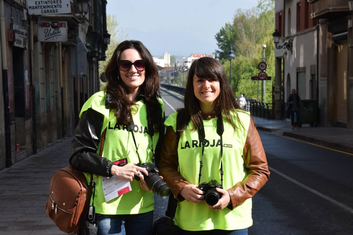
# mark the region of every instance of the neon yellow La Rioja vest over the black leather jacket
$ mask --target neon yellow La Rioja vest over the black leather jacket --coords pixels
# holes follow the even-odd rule
[[[162,112],[164,111],[164,104],[161,99],[158,101],[162,105]],[[148,134],[147,128],[147,110],[146,105],[142,100],[136,102],[138,110],[133,114],[134,121],[134,136],[136,144],[138,145],[140,159],[142,162],[152,161],[151,137]],[[125,126],[117,125],[116,118],[112,112],[105,108],[105,93],[100,91],[92,95],[83,105],[82,112],[92,108],[104,115],[103,127],[101,132],[107,127],[106,139],[104,142],[102,157],[106,157],[111,161],[117,161],[127,158],[129,163],[138,163],[138,156],[136,154],[136,147],[134,145],[132,135]],[[163,118],[163,117],[162,117]],[[155,132],[153,136],[153,146],[156,147],[159,133]],[[99,154],[100,144],[98,146],[97,154]],[[85,173],[87,180],[90,180],[90,174]],[[130,182],[132,191],[122,194],[118,198],[114,198],[106,203],[102,180],[97,176],[97,183],[95,187],[94,206],[96,213],[105,215],[123,215],[123,214],[140,214],[154,210],[153,194],[143,190],[137,180]],[[92,201],[92,199],[91,199]],[[91,203],[92,204],[92,203]]]

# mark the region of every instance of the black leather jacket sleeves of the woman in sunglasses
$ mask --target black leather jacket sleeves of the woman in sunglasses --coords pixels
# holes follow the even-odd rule
[[[96,154],[101,141],[103,115],[91,108],[84,111],[75,129],[71,143],[70,165],[76,170],[91,174],[112,177],[110,169],[113,162]],[[164,128],[159,132],[155,149],[156,166],[159,165],[160,151],[163,144]]]

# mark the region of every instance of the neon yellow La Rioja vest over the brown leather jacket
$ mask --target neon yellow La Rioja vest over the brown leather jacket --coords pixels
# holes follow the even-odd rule
[[[239,119],[233,113],[233,120],[239,127],[234,132],[233,127],[223,118],[224,133],[223,139],[223,188],[227,190],[246,177],[244,169],[243,148],[246,141],[247,130],[250,124],[250,115],[238,111]],[[165,126],[172,126],[176,129],[177,112],[170,115],[164,122]],[[204,120],[205,137],[210,142],[205,147],[203,155],[202,182],[209,182],[216,179],[221,183],[220,167],[220,136],[216,130],[217,118]],[[244,128],[243,128],[244,127]],[[198,185],[198,174],[202,147],[198,140],[198,132],[190,131],[192,122],[190,121],[187,129],[180,136],[178,144],[179,169],[181,175],[190,183]],[[233,210],[225,208],[213,211],[206,202],[192,203],[184,200],[178,202],[177,212],[175,213],[175,224],[184,230],[235,230],[248,228],[252,225],[251,218],[251,199]]]

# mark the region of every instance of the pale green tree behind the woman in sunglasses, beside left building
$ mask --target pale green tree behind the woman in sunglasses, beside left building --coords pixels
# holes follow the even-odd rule
[[[112,58],[115,48],[127,37],[127,35],[123,33],[122,29],[119,30],[119,23],[116,20],[115,15],[107,14],[107,31],[110,34],[110,43],[106,50],[106,60],[99,61],[98,63],[98,71],[100,75],[104,73],[104,69],[110,61],[110,58]],[[101,90],[103,90],[106,86],[106,82],[100,81],[100,85]]]

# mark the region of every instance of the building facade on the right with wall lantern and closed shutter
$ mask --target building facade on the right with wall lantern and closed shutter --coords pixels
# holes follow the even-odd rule
[[[301,99],[318,100],[321,126],[353,128],[351,22],[347,0],[275,1],[280,44],[292,41],[292,51],[275,49],[276,118],[294,88]]]

